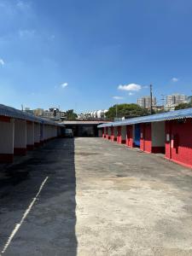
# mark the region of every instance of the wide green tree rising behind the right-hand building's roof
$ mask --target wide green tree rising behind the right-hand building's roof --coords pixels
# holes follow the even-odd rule
[[[116,109],[118,113],[118,117],[126,117],[126,118],[131,118],[131,117],[136,117],[136,116],[142,116],[142,115],[147,115],[148,110],[141,108],[137,104],[131,103],[131,104],[119,104],[119,105],[114,105],[113,107],[108,109],[108,113],[106,114],[108,119],[113,119],[116,117]]]

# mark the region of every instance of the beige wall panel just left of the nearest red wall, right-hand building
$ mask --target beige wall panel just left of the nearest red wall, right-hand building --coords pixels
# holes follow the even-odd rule
[[[166,142],[165,122],[154,122],[152,128],[152,147],[164,147]]]

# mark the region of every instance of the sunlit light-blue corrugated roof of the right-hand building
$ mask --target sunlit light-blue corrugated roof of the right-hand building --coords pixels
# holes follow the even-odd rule
[[[118,122],[108,123],[98,125],[98,128],[109,127],[109,126],[119,126],[119,125],[134,125],[142,123],[160,122],[172,119],[187,119],[192,118],[192,108],[186,108],[181,110],[170,111],[166,113],[156,113],[147,116],[141,116],[133,119],[125,119]]]

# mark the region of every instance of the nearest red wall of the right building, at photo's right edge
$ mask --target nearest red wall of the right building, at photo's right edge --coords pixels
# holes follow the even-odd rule
[[[166,158],[192,168],[192,119],[166,121]]]

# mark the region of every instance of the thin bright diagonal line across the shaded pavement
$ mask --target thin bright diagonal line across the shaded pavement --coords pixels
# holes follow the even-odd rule
[[[26,219],[27,215],[29,214],[29,212],[31,212],[34,203],[35,203],[36,201],[38,201],[38,195],[40,195],[42,189],[44,189],[44,185],[45,185],[45,183],[47,182],[48,178],[49,178],[49,177],[45,177],[43,183],[41,184],[40,188],[38,189],[37,195],[32,199],[31,204],[29,205],[29,207],[27,207],[26,212],[23,214],[23,217],[21,218],[20,223],[19,223],[19,224],[15,224],[15,229],[11,232],[11,235],[9,236],[8,241],[6,242],[5,246],[3,247],[3,251],[0,253],[0,256],[1,256],[3,253],[6,252],[6,250],[8,249],[8,247],[9,247],[11,241],[13,241],[13,239],[14,239],[16,233],[20,230],[20,226],[21,226],[21,225],[23,224],[23,222],[25,221],[25,219]]]

